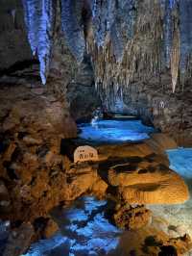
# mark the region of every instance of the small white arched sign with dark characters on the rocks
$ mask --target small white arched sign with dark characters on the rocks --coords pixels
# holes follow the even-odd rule
[[[92,146],[78,146],[74,152],[74,163],[98,160],[97,150]]]

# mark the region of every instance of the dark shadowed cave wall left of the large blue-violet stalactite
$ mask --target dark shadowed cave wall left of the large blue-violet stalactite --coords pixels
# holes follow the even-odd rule
[[[23,6],[20,0],[0,1],[0,70],[31,60]]]

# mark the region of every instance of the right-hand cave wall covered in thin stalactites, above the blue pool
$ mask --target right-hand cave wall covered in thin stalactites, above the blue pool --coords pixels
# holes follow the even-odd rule
[[[87,50],[103,105],[190,145],[191,2],[96,3]]]

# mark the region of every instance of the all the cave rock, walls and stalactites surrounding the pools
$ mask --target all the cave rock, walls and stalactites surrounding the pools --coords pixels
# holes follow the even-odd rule
[[[129,253],[183,255],[188,236],[167,234],[168,224],[159,231],[143,204],[189,196],[164,150],[192,144],[191,1],[0,6],[0,250],[3,241],[4,255],[24,253],[58,230],[51,209],[93,194],[120,205],[110,215],[139,243]],[[97,107],[137,115],[164,134],[96,146],[98,162],[74,164],[61,141],[76,138],[75,121],[89,121]]]

